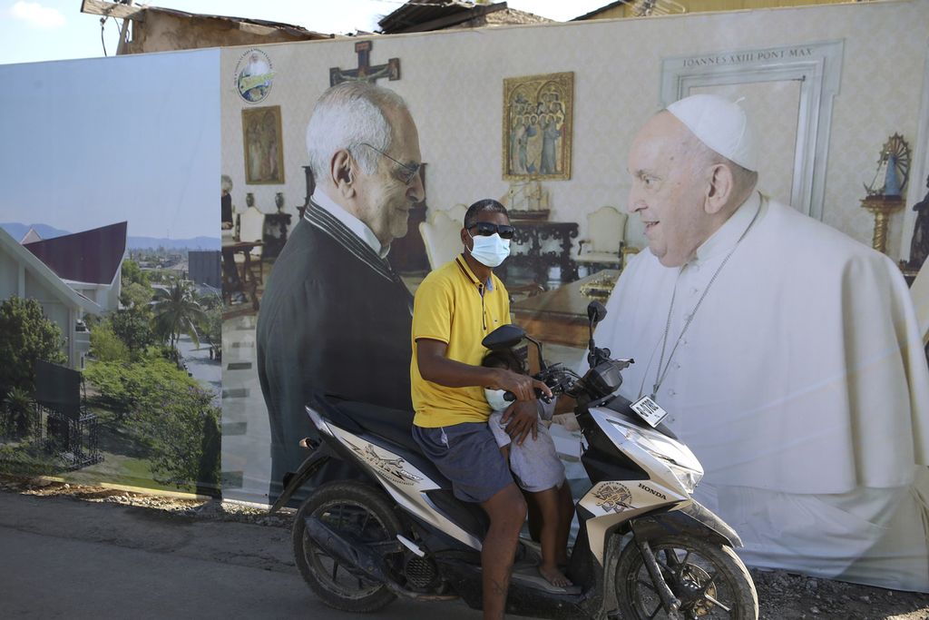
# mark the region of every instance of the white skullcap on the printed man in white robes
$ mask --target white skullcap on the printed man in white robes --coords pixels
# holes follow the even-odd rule
[[[667,110],[713,151],[743,168],[758,170],[757,140],[738,103],[717,95],[691,95],[674,101]]]

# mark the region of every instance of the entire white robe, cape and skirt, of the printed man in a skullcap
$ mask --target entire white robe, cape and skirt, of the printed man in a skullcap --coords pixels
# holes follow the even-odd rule
[[[684,267],[634,257],[597,343],[635,358],[624,396],[650,394],[675,287],[665,363],[756,213],[657,392],[695,497],[749,564],[929,591],[929,371],[889,258],[755,193]]]

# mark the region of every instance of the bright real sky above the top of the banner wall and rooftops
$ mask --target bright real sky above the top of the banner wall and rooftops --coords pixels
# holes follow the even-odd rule
[[[141,5],[143,3],[137,2]],[[190,13],[282,21],[320,33],[373,32],[377,20],[404,3],[399,0],[156,0],[155,7]],[[609,0],[509,0],[510,8],[566,21]],[[85,59],[113,55],[117,20],[81,13],[81,0],[0,0],[0,64]]]

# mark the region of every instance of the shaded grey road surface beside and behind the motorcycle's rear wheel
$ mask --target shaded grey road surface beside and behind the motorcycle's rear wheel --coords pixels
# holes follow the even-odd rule
[[[290,532],[66,496],[0,492],[5,618],[476,620],[460,600],[339,613],[294,568]]]

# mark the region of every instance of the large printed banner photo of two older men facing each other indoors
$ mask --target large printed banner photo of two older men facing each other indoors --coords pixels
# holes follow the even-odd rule
[[[615,20],[379,37],[364,46],[370,71],[355,73],[345,70],[353,41],[262,47],[274,74],[261,105],[280,107],[286,181],[258,182],[243,167],[241,119],[257,109],[233,88],[221,93],[224,496],[281,497],[320,441],[307,405],[371,403],[383,410],[365,423],[400,433],[388,427],[409,424],[422,378],[417,291],[476,253],[481,231],[498,231],[508,241],[493,268],[506,318],[543,341],[545,362],[582,373],[588,308],[606,304],[598,344],[635,359],[620,393],[668,412],[706,468],[700,501],[749,530],[746,561],[891,585],[874,562],[893,557],[907,575],[896,585],[925,587],[918,575],[929,569],[913,552],[922,512],[910,500],[927,490],[914,468],[927,439],[912,420],[925,416],[929,387],[917,323],[902,310],[920,225],[909,209],[875,217],[924,193],[926,50],[901,34],[924,7],[858,8],[873,11],[878,33],[860,12],[807,7],[644,28]],[[901,45],[872,54],[880,33]],[[597,53],[565,52],[578,41]],[[468,62],[458,61],[463,50]],[[223,74],[241,71],[246,52],[224,51]],[[375,71],[388,59],[398,69],[389,80]],[[331,86],[333,71],[348,77]],[[900,104],[881,103],[890,100]],[[714,116],[720,105],[700,101],[725,101],[724,118],[749,120],[726,125]],[[672,130],[696,140],[686,156],[656,146]],[[885,153],[897,132],[919,162],[909,182]],[[685,199],[669,198],[649,170],[654,157],[681,166],[703,148],[724,158],[710,165],[725,167],[725,188],[678,222],[673,208]],[[486,200],[503,205],[505,222],[465,222]],[[739,217],[700,228],[720,211]],[[539,369],[539,352],[521,353]],[[868,413],[882,402],[894,403],[881,423],[889,432]],[[808,424],[813,412],[822,426]],[[575,416],[556,413],[547,433],[574,498],[603,495],[582,467]],[[824,454],[836,462],[828,471],[817,465]],[[386,468],[388,456],[363,458]],[[314,483],[356,476],[350,469],[317,472]],[[833,526],[839,506],[853,516]],[[883,516],[869,518],[867,506]],[[802,527],[799,513],[816,526]],[[888,529],[893,540],[880,534]],[[860,545],[843,555],[849,533]]]

